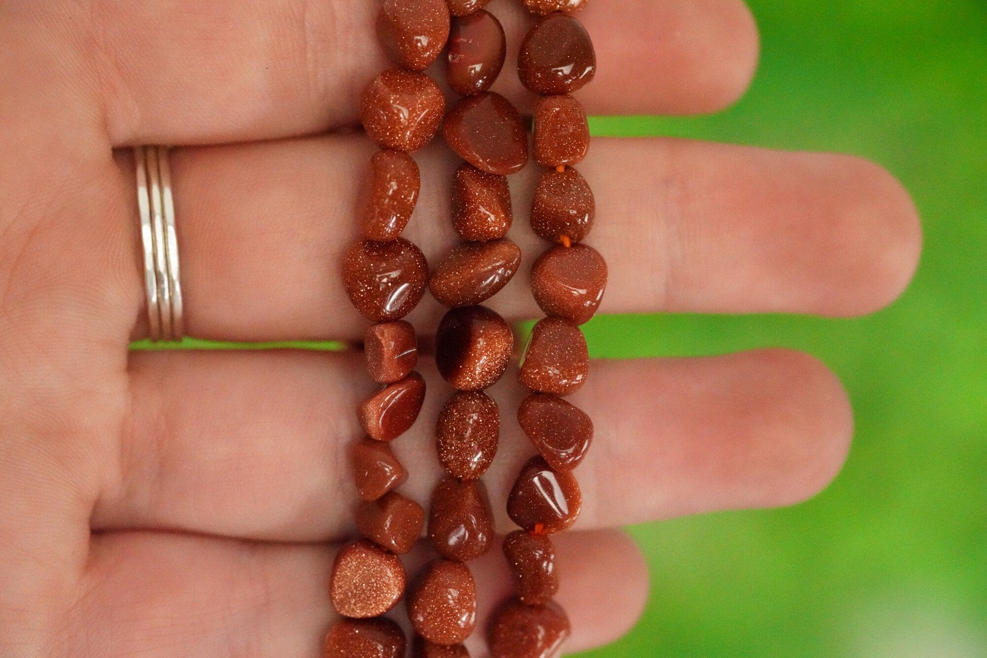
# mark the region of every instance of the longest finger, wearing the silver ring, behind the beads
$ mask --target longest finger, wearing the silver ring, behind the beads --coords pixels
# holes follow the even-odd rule
[[[190,333],[233,340],[343,338],[366,326],[342,288],[342,252],[372,147],[358,136],[175,154]],[[445,149],[418,157],[422,192],[409,239],[433,265],[456,241]],[[606,257],[603,313],[868,313],[911,278],[921,235],[908,194],[882,169],[847,156],[783,153],[670,139],[596,139],[579,166],[597,217],[587,243]],[[489,304],[509,319],[540,315],[527,272],[545,243],[528,226],[537,182],[514,179],[521,273]],[[120,193],[134,196],[121,162]],[[129,198],[129,197],[127,197]],[[123,224],[133,232],[134,216]],[[136,261],[128,275],[140,285]],[[135,299],[138,299],[135,296]],[[434,328],[426,296],[410,318]],[[133,317],[142,320],[137,307]],[[138,329],[138,331],[146,329]]]

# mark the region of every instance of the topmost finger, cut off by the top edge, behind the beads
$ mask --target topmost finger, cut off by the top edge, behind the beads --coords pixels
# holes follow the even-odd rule
[[[110,2],[77,27],[100,35],[101,47],[82,54],[100,81],[114,145],[249,141],[357,120],[363,86],[390,65],[374,30],[378,6]],[[492,9],[511,53],[494,89],[530,106],[512,67],[531,21],[515,2]],[[579,96],[590,112],[718,110],[753,75],[757,31],[739,0],[599,4],[579,19],[600,70]]]

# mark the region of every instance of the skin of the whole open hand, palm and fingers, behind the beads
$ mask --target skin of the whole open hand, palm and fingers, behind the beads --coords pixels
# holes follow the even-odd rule
[[[344,447],[372,387],[354,355],[129,354],[146,312],[125,147],[182,146],[192,335],[359,335],[336,263],[374,147],[326,133],[356,121],[360,89],[386,65],[375,7],[0,2],[0,654],[319,655],[333,543],[352,532]],[[491,9],[515,51],[526,19],[513,3]],[[579,18],[599,58],[578,95],[590,113],[718,110],[755,68],[756,30],[736,0],[594,2]],[[510,62],[495,89],[530,111]],[[406,235],[436,262],[454,242],[432,220],[447,216],[457,163],[441,143],[416,159]],[[596,139],[579,169],[600,208],[587,242],[610,264],[601,313],[866,314],[918,260],[907,193],[855,158]],[[514,177],[516,208],[534,183],[534,168]],[[511,235],[529,262],[543,247],[518,215]],[[493,308],[537,316],[526,283]],[[426,298],[410,320],[425,330],[440,313]],[[421,370],[444,391],[433,364]],[[506,421],[515,382],[509,372],[492,391],[505,418],[494,501],[531,454]],[[442,397],[395,444],[419,501],[439,475]],[[645,563],[614,528],[803,500],[838,472],[852,435],[839,382],[787,350],[594,363],[571,400],[597,439],[576,473],[583,516],[558,538],[569,650],[620,636],[645,604]],[[484,617],[506,594],[504,566],[497,551],[471,566]]]

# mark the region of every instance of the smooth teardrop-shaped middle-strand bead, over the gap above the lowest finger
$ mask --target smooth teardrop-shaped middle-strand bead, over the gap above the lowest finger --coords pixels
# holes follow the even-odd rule
[[[443,557],[469,562],[491,548],[493,510],[480,480],[442,479],[432,491],[428,539]]]

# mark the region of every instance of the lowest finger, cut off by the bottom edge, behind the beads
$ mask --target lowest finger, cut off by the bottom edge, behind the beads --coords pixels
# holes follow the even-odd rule
[[[567,649],[625,632],[646,598],[634,544],[618,533],[591,533],[560,536],[556,546],[564,574],[557,600],[573,626]],[[171,534],[98,536],[65,655],[315,658],[335,620],[328,596],[333,551]],[[480,597],[474,651],[483,646],[493,605],[509,594],[498,553],[470,563]],[[403,609],[390,616],[407,623]]]

